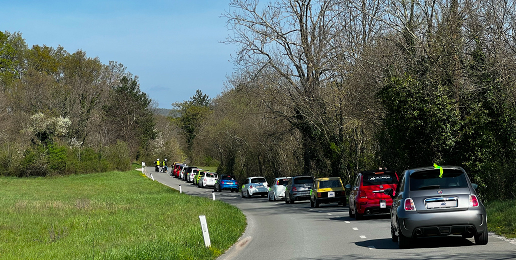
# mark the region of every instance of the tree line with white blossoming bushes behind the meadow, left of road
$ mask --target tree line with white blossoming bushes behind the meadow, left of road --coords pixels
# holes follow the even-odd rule
[[[151,109],[122,64],[0,31],[0,175],[127,170],[164,146]]]

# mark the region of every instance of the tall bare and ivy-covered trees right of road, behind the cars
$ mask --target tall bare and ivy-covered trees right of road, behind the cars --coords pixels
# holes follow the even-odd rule
[[[514,198],[514,2],[233,0],[223,16],[237,71],[172,118],[193,163],[347,182],[458,165]]]

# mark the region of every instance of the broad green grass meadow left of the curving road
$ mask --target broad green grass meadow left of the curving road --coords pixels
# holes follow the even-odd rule
[[[134,170],[0,178],[0,187],[0,259],[214,259],[246,227],[237,207],[179,194]]]

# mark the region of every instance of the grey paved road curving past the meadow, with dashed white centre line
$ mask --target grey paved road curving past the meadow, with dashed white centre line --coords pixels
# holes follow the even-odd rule
[[[147,173],[154,171],[147,167]],[[153,172],[156,181],[196,196],[212,196],[202,189],[165,173]],[[424,238],[412,249],[399,250],[391,241],[389,215],[355,221],[348,208],[309,202],[269,202],[267,198],[243,199],[239,193],[216,193],[216,199],[239,207],[248,227],[240,240],[220,260],[230,259],[516,259],[516,245],[489,237],[476,246],[462,237]]]

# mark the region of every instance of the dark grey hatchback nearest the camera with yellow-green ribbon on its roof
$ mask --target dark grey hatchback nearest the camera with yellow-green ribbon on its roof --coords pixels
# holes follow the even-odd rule
[[[423,167],[405,170],[393,195],[391,236],[399,248],[427,236],[462,235],[475,243],[488,242],[486,209],[461,167]]]

